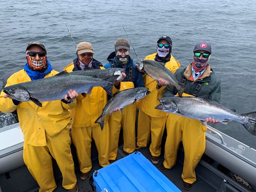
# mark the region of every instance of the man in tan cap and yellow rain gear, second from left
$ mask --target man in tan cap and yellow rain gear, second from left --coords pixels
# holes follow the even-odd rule
[[[102,64],[93,58],[94,49],[90,42],[80,42],[76,47],[77,57],[70,65],[64,68],[67,72],[84,70],[87,68],[104,69]],[[90,70],[90,69],[89,69]],[[125,77],[125,74],[122,73]],[[122,79],[121,79],[122,80]],[[120,82],[115,82],[118,86]],[[117,92],[113,88],[113,92]],[[101,87],[94,87],[92,94],[79,94],[77,104],[72,112],[72,140],[76,147],[77,157],[80,164],[80,179],[86,180],[92,169],[91,142],[95,141],[98,150],[100,166],[109,165],[109,116],[104,120],[103,130],[96,119],[101,115],[103,108],[108,102],[107,93]]]

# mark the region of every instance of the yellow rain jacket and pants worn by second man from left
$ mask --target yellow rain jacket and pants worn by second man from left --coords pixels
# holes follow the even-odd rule
[[[72,72],[74,62],[70,63],[64,70]],[[104,67],[100,67],[104,69]],[[113,93],[117,92],[115,86]],[[79,94],[77,104],[72,110],[72,139],[76,146],[77,156],[82,173],[90,172],[91,162],[91,141],[95,141],[100,166],[109,164],[109,115],[104,119],[104,127],[101,131],[99,123],[95,123],[102,114],[103,108],[108,102],[106,91],[101,87],[94,87],[92,94]]]

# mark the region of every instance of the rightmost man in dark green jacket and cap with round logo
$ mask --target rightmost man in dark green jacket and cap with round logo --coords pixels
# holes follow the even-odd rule
[[[186,84],[183,96],[206,96],[212,102],[219,103],[221,97],[220,78],[209,65],[211,45],[207,41],[200,41],[193,51],[193,62],[185,69],[178,69],[175,73],[177,80]],[[159,83],[166,84],[163,80]],[[173,97],[177,94],[175,87],[167,86],[163,97]],[[217,123],[216,119],[207,118],[206,122]],[[163,172],[172,168],[177,159],[180,142],[184,147],[184,165],[181,178],[186,190],[191,189],[196,181],[195,168],[205,151],[206,126],[201,121],[170,113],[166,122],[167,138],[165,142],[164,161],[159,166]]]

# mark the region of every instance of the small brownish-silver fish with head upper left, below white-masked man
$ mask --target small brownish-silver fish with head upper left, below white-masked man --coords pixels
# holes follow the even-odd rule
[[[158,80],[162,78],[168,83],[169,86],[175,86],[178,90],[178,94],[181,97],[182,93],[186,90],[186,85],[180,83],[172,71],[168,70],[163,62],[157,62],[154,60],[141,60],[137,61],[137,68],[139,71],[143,70],[145,74],[151,78]]]

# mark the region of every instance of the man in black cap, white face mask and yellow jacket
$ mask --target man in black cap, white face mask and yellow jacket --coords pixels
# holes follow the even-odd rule
[[[164,62],[165,67],[175,73],[180,67],[180,63],[171,54],[172,46],[172,39],[169,36],[162,36],[157,41],[157,52],[146,56],[145,59]],[[157,80],[148,75],[144,75],[143,78],[144,85],[151,94],[139,101],[136,149],[147,146],[151,136],[151,161],[154,164],[158,164],[167,113],[156,110],[155,106],[159,104],[158,98],[162,97],[165,86],[161,87]]]

